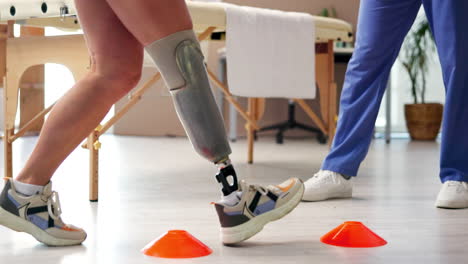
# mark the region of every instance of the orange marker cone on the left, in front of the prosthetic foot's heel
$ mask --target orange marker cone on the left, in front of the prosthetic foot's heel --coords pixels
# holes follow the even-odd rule
[[[198,258],[213,251],[187,231],[170,230],[146,245],[142,252],[159,258]]]

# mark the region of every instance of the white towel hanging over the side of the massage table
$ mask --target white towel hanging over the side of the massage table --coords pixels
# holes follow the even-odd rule
[[[315,24],[309,14],[227,5],[231,93],[315,98]]]

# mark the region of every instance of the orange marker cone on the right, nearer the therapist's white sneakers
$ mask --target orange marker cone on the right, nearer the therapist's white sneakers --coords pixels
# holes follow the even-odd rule
[[[339,247],[380,247],[387,244],[361,222],[344,222],[320,238],[325,244]]]

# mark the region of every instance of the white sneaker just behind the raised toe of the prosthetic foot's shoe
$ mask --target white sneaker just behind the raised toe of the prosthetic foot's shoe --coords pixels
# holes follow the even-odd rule
[[[320,170],[307,180],[302,201],[316,202],[331,198],[351,198],[354,177],[346,180],[341,174]]]

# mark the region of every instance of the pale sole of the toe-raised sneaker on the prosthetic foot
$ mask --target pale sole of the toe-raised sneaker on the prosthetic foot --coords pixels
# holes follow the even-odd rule
[[[300,191],[281,207],[256,216],[244,224],[235,227],[221,228],[221,240],[223,241],[223,244],[233,245],[247,240],[262,231],[263,227],[269,222],[279,220],[289,214],[301,202],[304,189],[304,184],[302,184]]]

